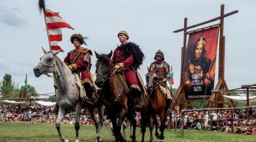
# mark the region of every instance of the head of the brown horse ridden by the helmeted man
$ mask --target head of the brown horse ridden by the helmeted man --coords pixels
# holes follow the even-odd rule
[[[146,82],[147,82],[147,93],[151,94],[152,91],[158,86],[159,77],[157,75],[158,70],[150,70],[148,69],[148,73],[146,74]]]

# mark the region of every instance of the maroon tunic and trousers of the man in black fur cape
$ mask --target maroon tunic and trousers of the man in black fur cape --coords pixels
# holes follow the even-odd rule
[[[133,55],[126,57],[126,53],[121,52],[119,49],[115,49],[111,60],[112,64],[118,64],[121,68],[129,68],[125,70],[125,77],[130,88],[139,89],[139,83],[137,81],[136,74],[130,67],[133,65]]]

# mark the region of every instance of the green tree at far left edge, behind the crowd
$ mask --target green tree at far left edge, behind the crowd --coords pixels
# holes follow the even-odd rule
[[[11,74],[5,74],[3,76],[2,86],[0,87],[0,92],[4,94],[9,94],[14,91],[15,82],[11,79]]]

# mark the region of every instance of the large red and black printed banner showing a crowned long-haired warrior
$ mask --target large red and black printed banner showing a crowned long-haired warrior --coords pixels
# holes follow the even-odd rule
[[[214,87],[218,30],[216,27],[189,35],[183,68],[187,100],[210,98]]]

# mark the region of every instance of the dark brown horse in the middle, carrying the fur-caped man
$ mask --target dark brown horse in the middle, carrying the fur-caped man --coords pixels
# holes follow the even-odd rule
[[[104,102],[104,106],[109,110],[108,118],[111,120],[114,129],[115,141],[125,141],[121,134],[121,126],[125,118],[131,121],[133,125],[132,141],[136,141],[135,130],[137,121],[133,117],[133,106],[130,106],[131,95],[127,95],[123,86],[123,82],[118,78],[119,71],[114,70],[113,65],[110,64],[110,57],[112,57],[112,51],[109,55],[99,55],[95,52],[97,57],[96,62],[96,85],[101,88],[101,98]],[[144,101],[143,101],[144,100]],[[145,98],[141,98],[142,110],[141,114],[144,114],[147,103]],[[118,121],[117,121],[118,118]],[[117,122],[117,123],[115,123]]]

